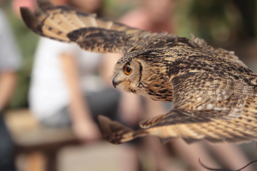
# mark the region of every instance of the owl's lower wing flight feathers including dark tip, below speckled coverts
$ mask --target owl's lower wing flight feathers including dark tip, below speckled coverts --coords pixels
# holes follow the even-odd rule
[[[243,108],[240,117],[233,119],[218,119],[222,115],[219,111],[197,111],[187,113],[184,111],[171,110],[166,117],[146,124],[143,129],[136,131],[127,128],[122,124],[110,119],[99,118],[102,135],[111,143],[120,144],[132,140],[136,137],[154,135],[161,138],[163,143],[167,143],[174,138],[183,138],[187,143],[192,143],[200,139],[207,139],[210,142],[233,142],[243,143],[257,140],[257,97],[249,97],[246,100],[248,105]],[[105,117],[106,118],[106,117]],[[105,125],[105,127],[101,126]],[[141,123],[141,126],[143,123]],[[129,130],[128,130],[129,129]],[[124,131],[125,130],[125,131]],[[126,130],[128,130],[126,132]],[[108,134],[107,134],[108,133]]]

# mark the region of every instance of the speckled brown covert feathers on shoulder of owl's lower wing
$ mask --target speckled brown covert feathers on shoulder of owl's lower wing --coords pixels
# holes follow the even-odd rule
[[[183,111],[218,110],[224,118],[240,116],[251,86],[214,72],[188,72],[171,78],[173,106]]]

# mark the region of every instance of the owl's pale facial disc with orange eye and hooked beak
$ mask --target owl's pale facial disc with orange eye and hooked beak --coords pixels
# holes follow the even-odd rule
[[[114,67],[113,86],[120,87],[126,92],[136,93],[141,89],[142,66],[137,61],[130,61],[126,64],[116,64]]]

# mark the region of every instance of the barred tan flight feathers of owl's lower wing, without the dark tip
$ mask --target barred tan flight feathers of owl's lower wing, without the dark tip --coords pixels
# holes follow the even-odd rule
[[[246,115],[243,112],[242,118],[228,120],[218,119],[221,116],[218,111],[185,113],[172,110],[161,122],[148,128],[147,132],[159,136],[164,142],[176,137],[184,138],[187,142],[203,138],[214,143],[247,142],[257,139],[257,125],[256,119],[253,120],[255,123],[246,123],[243,119]],[[256,117],[257,113],[254,116]]]

